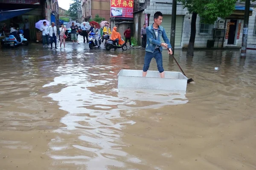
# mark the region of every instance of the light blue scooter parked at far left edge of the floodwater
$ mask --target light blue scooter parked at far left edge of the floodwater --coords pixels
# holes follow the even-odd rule
[[[3,33],[3,35],[5,35]],[[0,34],[1,36],[1,34]],[[17,38],[14,35],[6,36],[2,41],[1,44],[3,46],[10,46],[15,48],[17,45],[23,44],[23,45],[29,45],[29,42],[26,38],[23,37],[23,30],[20,29],[17,31]]]

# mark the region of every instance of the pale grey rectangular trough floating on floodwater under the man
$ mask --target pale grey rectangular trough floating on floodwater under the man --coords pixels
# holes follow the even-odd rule
[[[165,71],[165,78],[160,78],[158,71],[148,71],[142,77],[141,70],[119,71],[118,88],[143,88],[167,91],[186,91],[187,78],[180,72]]]

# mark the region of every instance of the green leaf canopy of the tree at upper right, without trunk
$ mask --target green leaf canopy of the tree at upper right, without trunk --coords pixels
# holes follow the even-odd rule
[[[235,10],[237,0],[177,0],[190,13],[204,18],[204,23],[214,23],[218,17],[225,18]]]

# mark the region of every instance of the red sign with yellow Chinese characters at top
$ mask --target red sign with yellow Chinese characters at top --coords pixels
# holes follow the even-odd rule
[[[111,0],[111,17],[133,18],[134,0]]]

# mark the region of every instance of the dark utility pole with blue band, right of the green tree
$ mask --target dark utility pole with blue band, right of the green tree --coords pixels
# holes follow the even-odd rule
[[[245,10],[244,10],[244,28],[243,28],[243,39],[242,39],[242,46],[241,46],[241,58],[246,57],[249,11],[250,11],[250,0],[246,0]]]

